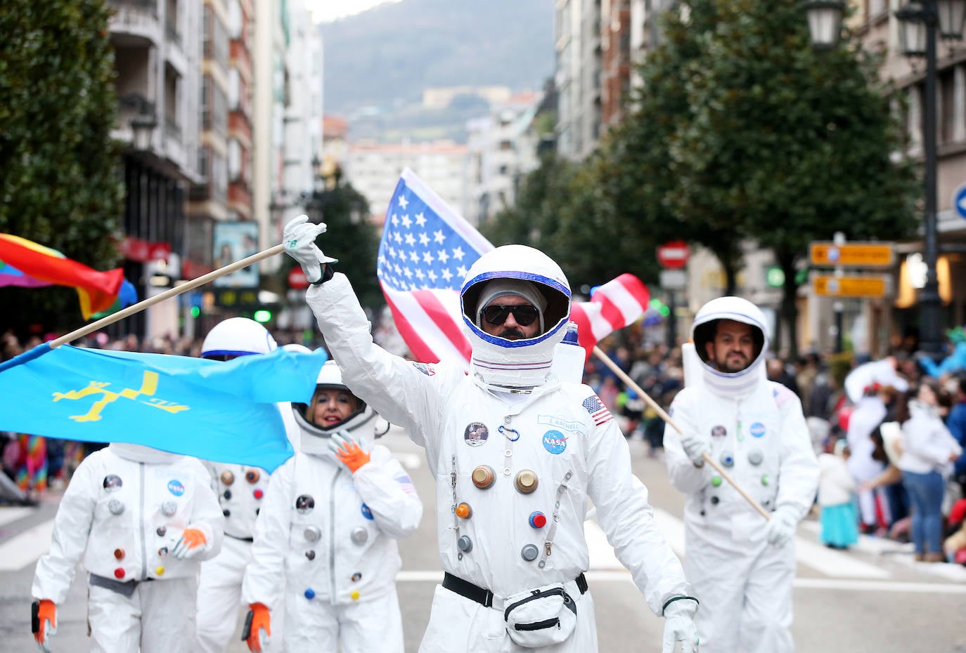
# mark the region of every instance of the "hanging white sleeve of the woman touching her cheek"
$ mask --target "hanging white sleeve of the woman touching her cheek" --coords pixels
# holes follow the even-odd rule
[[[289,532],[292,531],[292,511],[289,508],[293,499],[297,460],[298,453],[271,474],[269,489],[255,520],[251,562],[245,567],[241,583],[241,602],[244,605],[261,603],[270,610],[282,605],[285,556],[289,551]]]

